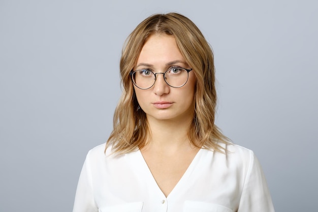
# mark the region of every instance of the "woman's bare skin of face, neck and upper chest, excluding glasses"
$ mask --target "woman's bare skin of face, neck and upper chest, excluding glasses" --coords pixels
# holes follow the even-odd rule
[[[190,68],[173,36],[151,35],[140,52],[135,70],[149,69],[162,73],[171,67]],[[157,75],[155,84],[149,89],[134,87],[151,132],[151,140],[141,153],[166,197],[199,150],[187,137],[195,112],[195,83],[194,71],[190,71],[187,83],[179,88],[170,87],[163,74]]]

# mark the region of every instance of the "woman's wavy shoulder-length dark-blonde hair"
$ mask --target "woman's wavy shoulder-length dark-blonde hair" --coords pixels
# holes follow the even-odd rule
[[[106,143],[113,154],[134,152],[150,137],[146,114],[138,109],[130,71],[147,38],[152,34],[172,35],[196,75],[195,114],[188,129],[189,140],[197,147],[224,152],[229,139],[214,125],[216,110],[214,59],[210,45],[199,28],[178,13],[155,14],[142,21],[125,42],[120,58],[122,95],[115,109],[113,131]],[[105,151],[106,151],[105,149]]]

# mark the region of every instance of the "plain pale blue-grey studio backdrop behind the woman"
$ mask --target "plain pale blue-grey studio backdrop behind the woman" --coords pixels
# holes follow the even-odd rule
[[[71,211],[104,143],[125,38],[180,12],[215,53],[217,125],[251,148],[276,211],[317,211],[316,1],[0,0],[0,211]]]

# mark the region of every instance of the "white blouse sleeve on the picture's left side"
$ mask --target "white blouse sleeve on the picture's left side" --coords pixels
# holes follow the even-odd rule
[[[84,162],[75,195],[73,212],[98,212],[94,201],[91,172],[89,167],[89,153]]]

